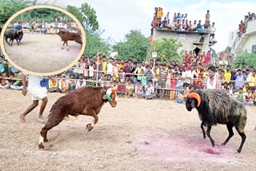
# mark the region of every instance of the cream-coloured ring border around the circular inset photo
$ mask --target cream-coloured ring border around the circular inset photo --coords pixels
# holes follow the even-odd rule
[[[62,13],[70,16],[70,18],[72,18],[74,20],[74,22],[77,23],[78,25],[78,29],[81,30],[82,32],[82,50],[80,50],[80,53],[78,54],[78,57],[74,59],[73,62],[70,63],[69,66],[64,67],[61,70],[57,70],[54,72],[50,72],[50,73],[36,73],[36,72],[32,72],[29,70],[25,70],[22,67],[18,66],[15,62],[13,62],[8,54],[6,53],[5,50],[5,46],[4,46],[4,34],[6,32],[7,26],[10,24],[10,22],[12,22],[14,20],[14,18],[18,17],[18,15],[28,11],[28,10],[34,10],[34,9],[40,9],[40,8],[48,8],[48,9],[52,9],[52,10],[58,10],[61,11]],[[66,70],[69,70],[72,66],[74,66],[78,60],[81,58],[82,54],[84,53],[85,49],[86,49],[86,31],[84,30],[82,24],[78,21],[78,19],[76,17],[74,17],[73,14],[71,14],[70,12],[68,12],[67,10],[62,9],[61,7],[58,6],[51,6],[51,5],[36,5],[36,6],[29,6],[26,7],[22,10],[19,10],[17,13],[13,14],[6,22],[6,24],[2,27],[2,33],[1,33],[1,37],[0,37],[0,46],[1,46],[1,50],[2,53],[5,55],[5,58],[7,59],[8,62],[10,62],[10,64],[12,66],[14,66],[15,68],[17,68],[18,70],[26,73],[26,74],[31,74],[31,75],[38,75],[38,76],[52,76],[52,75],[56,75],[56,74],[60,74]],[[42,65],[42,64],[41,64]]]

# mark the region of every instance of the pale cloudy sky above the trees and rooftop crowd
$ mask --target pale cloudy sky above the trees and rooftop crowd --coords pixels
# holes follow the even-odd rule
[[[238,30],[239,22],[250,12],[256,12],[256,1],[243,0],[38,0],[57,6],[80,6],[87,2],[96,10],[101,30],[105,30],[102,38],[111,38],[114,42],[123,41],[130,30],[141,30],[150,36],[150,23],[154,15],[154,7],[161,6],[164,15],[170,12],[188,14],[188,20],[205,21],[206,10],[210,10],[210,22],[215,22],[214,50],[225,50],[228,46],[230,31]]]

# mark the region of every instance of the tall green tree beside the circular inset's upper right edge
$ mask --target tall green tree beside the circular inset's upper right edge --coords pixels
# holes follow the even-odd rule
[[[67,6],[66,10],[68,10],[71,14],[74,14],[78,21],[81,22],[86,30],[98,30],[98,20],[96,11],[87,3],[82,3],[80,8],[75,6]]]

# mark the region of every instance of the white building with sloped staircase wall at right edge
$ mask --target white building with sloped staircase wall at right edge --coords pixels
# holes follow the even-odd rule
[[[256,53],[256,20],[248,22],[246,33],[238,38],[238,30],[230,32],[230,51],[238,54],[239,51],[246,50],[248,53]]]

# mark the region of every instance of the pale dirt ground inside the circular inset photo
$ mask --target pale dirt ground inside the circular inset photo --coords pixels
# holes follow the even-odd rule
[[[23,69],[50,73],[69,66],[80,53],[81,46],[77,42],[68,42],[69,51],[66,45],[62,50],[62,44],[57,34],[24,34],[20,46],[14,40],[13,46],[5,42],[5,48],[10,59]]]

